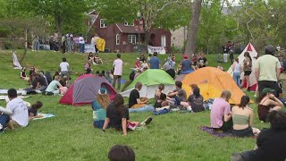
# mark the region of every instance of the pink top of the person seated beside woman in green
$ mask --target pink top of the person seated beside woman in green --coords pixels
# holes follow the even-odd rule
[[[211,127],[221,128],[223,126],[223,115],[231,114],[231,105],[222,97],[214,99],[211,110]]]

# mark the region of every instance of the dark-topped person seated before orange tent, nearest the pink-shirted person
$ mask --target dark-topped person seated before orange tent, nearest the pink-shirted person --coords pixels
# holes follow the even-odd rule
[[[187,110],[195,113],[205,111],[204,97],[199,93],[197,85],[193,85],[192,94],[189,95],[187,102],[181,102],[181,106],[186,106]]]

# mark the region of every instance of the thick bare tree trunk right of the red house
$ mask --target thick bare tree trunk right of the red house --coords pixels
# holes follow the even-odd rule
[[[198,24],[202,0],[195,0],[192,4],[191,19],[189,21],[189,29],[187,35],[187,42],[185,47],[185,54],[192,55],[196,51]]]

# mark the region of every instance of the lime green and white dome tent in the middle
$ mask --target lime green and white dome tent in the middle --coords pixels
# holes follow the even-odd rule
[[[171,92],[175,89],[175,82],[167,72],[157,69],[148,69],[133,80],[125,91],[122,91],[122,96],[129,97],[131,90],[134,89],[138,81],[143,84],[142,89],[139,91],[140,97],[153,98],[156,89],[158,89],[161,83],[164,84],[164,93]]]

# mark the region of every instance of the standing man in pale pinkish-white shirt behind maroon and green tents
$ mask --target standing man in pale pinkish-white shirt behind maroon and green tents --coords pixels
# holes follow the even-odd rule
[[[120,89],[120,85],[121,85],[122,68],[123,68],[123,62],[122,62],[121,57],[122,55],[118,54],[117,59],[114,60],[114,82],[113,82],[114,89],[115,89],[116,80],[118,83],[117,89]]]

